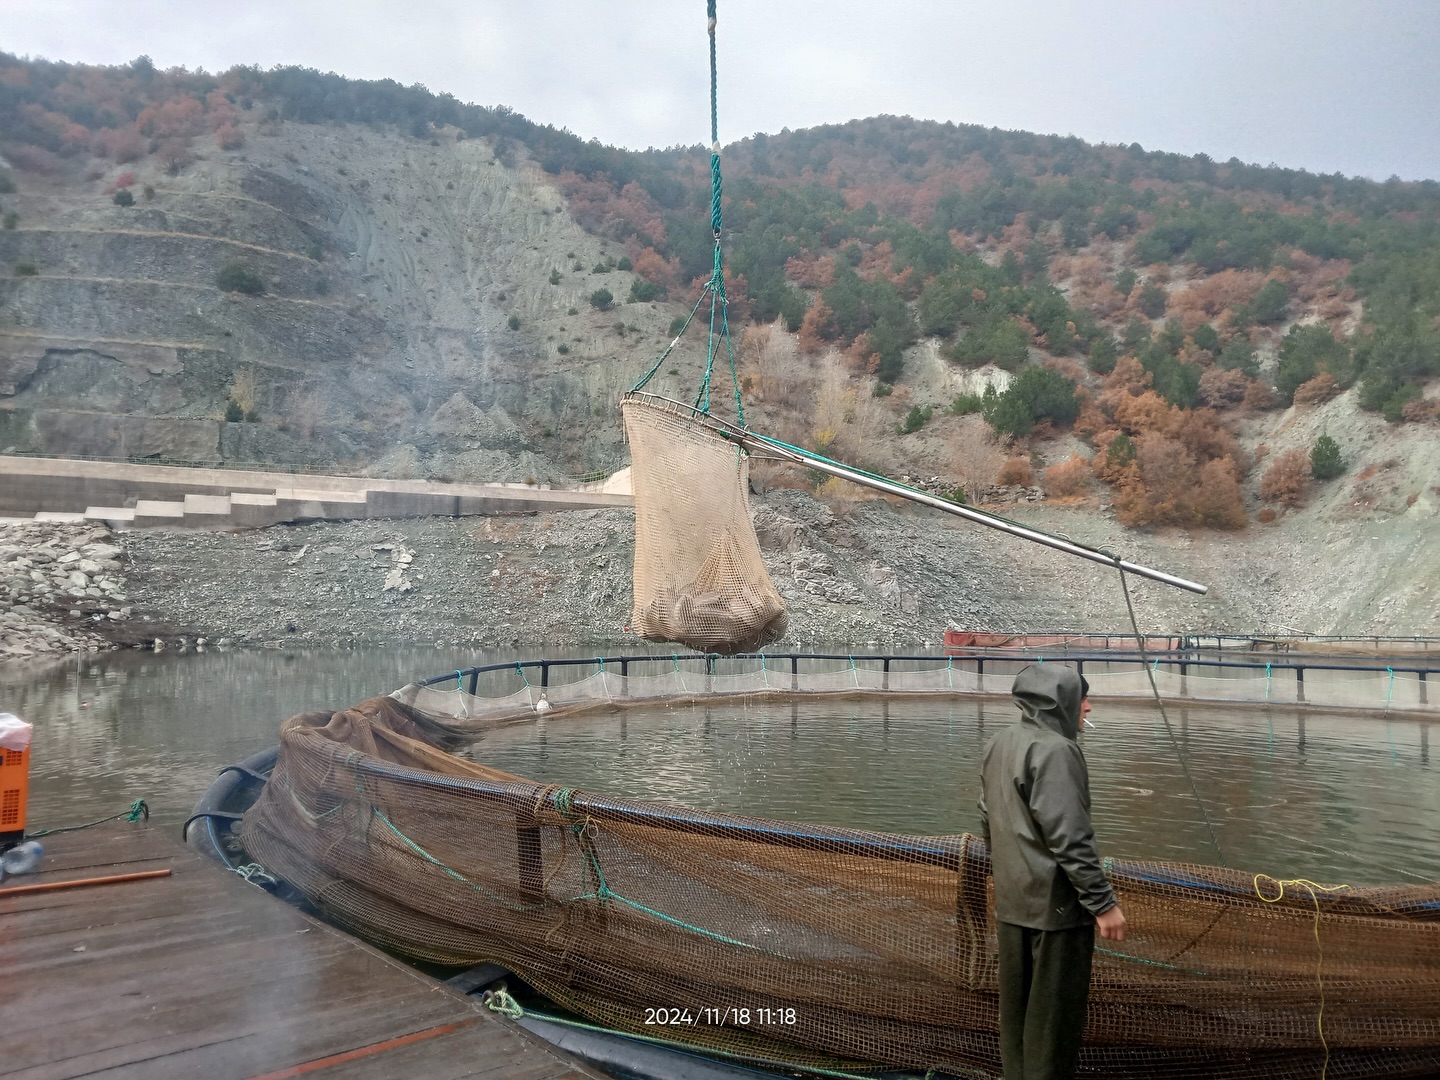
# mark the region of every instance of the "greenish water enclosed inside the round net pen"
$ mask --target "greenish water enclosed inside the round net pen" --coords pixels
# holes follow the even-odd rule
[[[471,753],[609,795],[945,834],[976,828],[981,752],[1011,716],[1002,701],[737,701],[550,717]],[[1093,719],[1084,749],[1107,854],[1349,884],[1440,881],[1427,721],[1171,707],[1166,727],[1153,708],[1109,703]]]

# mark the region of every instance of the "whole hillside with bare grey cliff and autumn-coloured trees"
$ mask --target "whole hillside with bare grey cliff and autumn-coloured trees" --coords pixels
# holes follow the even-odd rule
[[[0,55],[0,449],[609,471],[615,400],[710,265],[704,150],[423,88]],[[1077,533],[1179,528],[1149,537],[1221,544],[1220,572],[1374,527],[1394,570],[1336,553],[1344,609],[1306,618],[1395,596],[1365,625],[1434,625],[1403,567],[1440,501],[1436,183],[887,117],[723,163],[756,428]],[[693,395],[703,350],[652,386]]]

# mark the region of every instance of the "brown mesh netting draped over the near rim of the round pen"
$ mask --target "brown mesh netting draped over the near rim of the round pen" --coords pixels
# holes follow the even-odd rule
[[[606,798],[441,749],[528,700],[410,687],[291,719],[246,850],[359,935],[504,965],[586,1022],[772,1066],[999,1074],[979,840]],[[1130,930],[1097,943],[1083,1076],[1440,1073],[1440,887],[1106,873]]]

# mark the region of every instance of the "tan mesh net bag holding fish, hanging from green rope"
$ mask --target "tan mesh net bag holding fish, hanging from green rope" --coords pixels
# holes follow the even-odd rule
[[[632,395],[621,409],[635,492],[634,631],[706,652],[778,641],[788,616],[750,524],[744,451],[684,406]]]

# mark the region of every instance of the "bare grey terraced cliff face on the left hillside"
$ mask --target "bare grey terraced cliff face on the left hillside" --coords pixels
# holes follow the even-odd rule
[[[474,480],[622,464],[615,402],[678,307],[592,274],[624,252],[544,173],[455,131],[246,131],[179,176],[147,157],[22,177],[0,266],[36,272],[0,278],[0,451]],[[109,196],[125,171],[131,207]],[[222,289],[226,264],[265,294]]]

